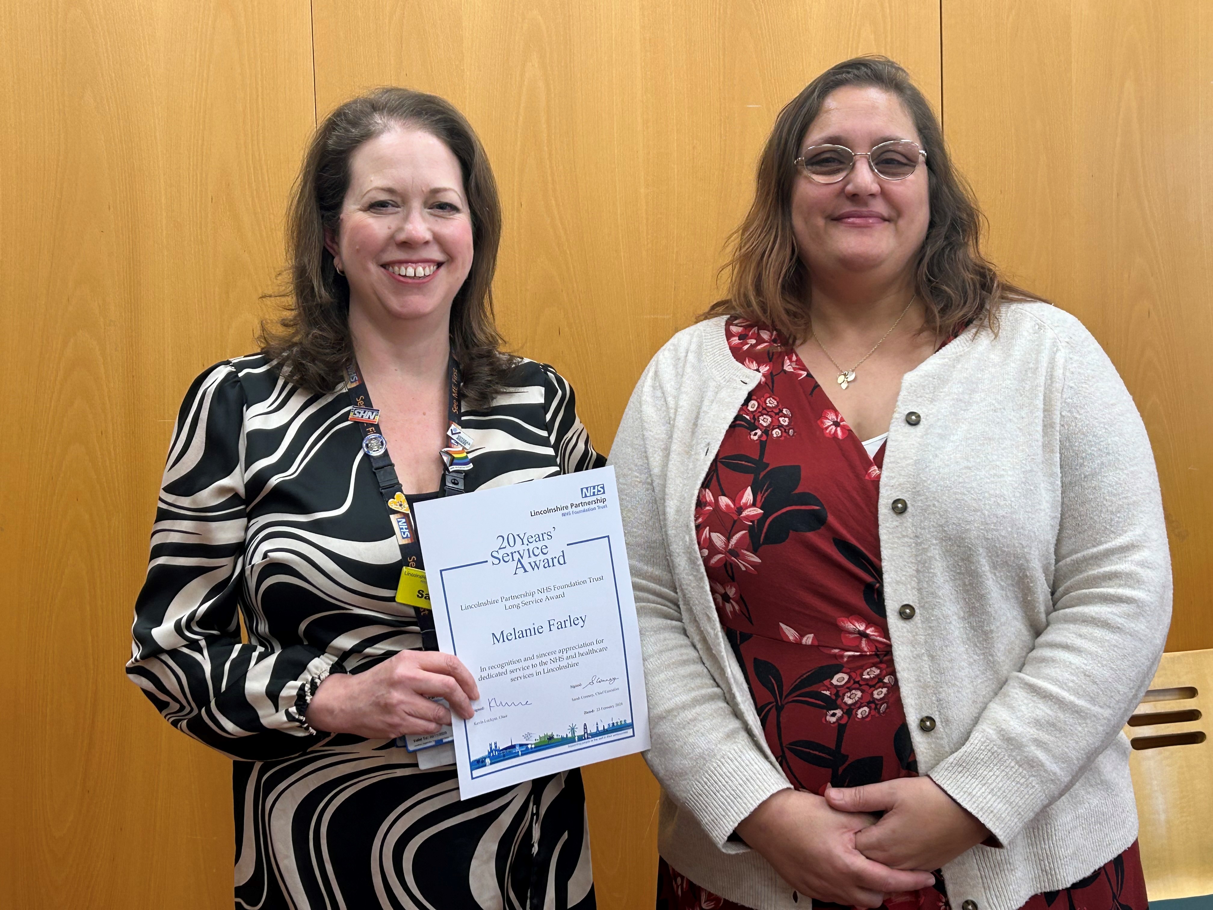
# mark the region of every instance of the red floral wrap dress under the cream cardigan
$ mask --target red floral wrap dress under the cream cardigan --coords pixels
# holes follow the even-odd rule
[[[704,478],[695,510],[716,612],[797,790],[918,773],[889,643],[877,527],[884,447],[869,457],[825,387],[770,329],[727,324],[734,358],[762,374]],[[1146,910],[1137,844],[1046,910]],[[815,902],[822,905],[822,902]],[[661,860],[659,910],[734,910]],[[830,904],[824,904],[831,906]],[[892,910],[945,910],[935,885]]]

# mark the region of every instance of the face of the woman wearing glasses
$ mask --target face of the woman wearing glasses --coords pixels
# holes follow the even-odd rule
[[[844,86],[826,96],[801,140],[871,152],[889,140],[922,146],[910,112],[896,95],[873,86]],[[837,183],[816,183],[797,169],[792,187],[792,232],[814,281],[896,283],[909,278],[930,221],[928,176],[921,164],[905,180],[877,177],[866,158]]]

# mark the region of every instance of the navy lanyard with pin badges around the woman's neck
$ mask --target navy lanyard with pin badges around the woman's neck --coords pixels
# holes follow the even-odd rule
[[[454,496],[463,493],[463,473],[472,467],[467,447],[472,440],[459,425],[460,417],[460,368],[459,362],[450,358],[450,386],[446,391],[446,448],[442,450],[445,470],[443,471],[442,495]],[[349,420],[361,425],[363,451],[370,459],[371,470],[378,483],[383,502],[392,519],[392,531],[400,545],[400,556],[409,569],[425,570],[421,556],[421,540],[417,536],[417,521],[404,494],[404,487],[395,473],[395,463],[387,451],[387,442],[378,431],[380,413],[371,404],[370,391],[358,372],[358,364],[346,368],[346,391],[349,392]],[[434,616],[428,609],[417,608],[417,625],[421,627],[421,642],[426,650],[438,650],[438,638],[434,633]]]

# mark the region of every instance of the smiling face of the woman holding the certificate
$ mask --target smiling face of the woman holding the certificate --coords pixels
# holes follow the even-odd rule
[[[472,218],[459,159],[442,140],[397,126],[359,146],[336,234],[325,246],[349,283],[352,322],[391,332],[450,320],[472,268]]]

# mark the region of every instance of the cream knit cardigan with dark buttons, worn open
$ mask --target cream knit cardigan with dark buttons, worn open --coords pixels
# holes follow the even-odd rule
[[[761,855],[727,840],[790,784],[717,620],[694,529],[708,462],[757,382],[729,352],[723,319],[679,332],[632,393],[610,461],[640,618],[661,855],[731,900],[803,910],[808,899]],[[1171,616],[1150,442],[1086,329],[1050,306],[1014,303],[997,334],[970,329],[906,374],[887,445],[884,599],[918,768],[1004,844],[949,863],[947,893],[955,908],[1015,910],[1137,837],[1121,727]],[[911,620],[898,616],[904,603]],[[929,733],[924,716],[936,721]]]

